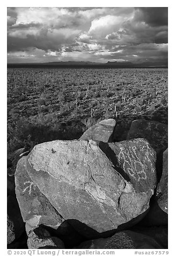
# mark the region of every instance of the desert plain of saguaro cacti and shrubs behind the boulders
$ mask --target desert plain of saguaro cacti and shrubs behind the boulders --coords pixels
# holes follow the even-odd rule
[[[8,150],[76,139],[114,118],[167,123],[167,69],[8,69]],[[121,129],[122,130],[122,129]]]

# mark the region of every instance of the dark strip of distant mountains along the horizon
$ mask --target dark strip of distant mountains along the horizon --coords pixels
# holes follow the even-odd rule
[[[167,61],[160,62],[110,62],[99,63],[91,61],[59,61],[59,62],[45,62],[45,63],[8,63],[8,68],[148,68],[148,67],[165,67],[167,68]]]

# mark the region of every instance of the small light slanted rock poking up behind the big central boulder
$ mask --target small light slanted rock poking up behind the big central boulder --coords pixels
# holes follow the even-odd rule
[[[99,140],[103,142],[113,142],[114,119],[105,119],[93,125],[82,135],[81,140]]]

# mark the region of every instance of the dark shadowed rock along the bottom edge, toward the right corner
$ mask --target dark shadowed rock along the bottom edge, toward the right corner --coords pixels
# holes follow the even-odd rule
[[[167,248],[166,227],[125,230],[110,238],[84,241],[76,249],[163,249]]]

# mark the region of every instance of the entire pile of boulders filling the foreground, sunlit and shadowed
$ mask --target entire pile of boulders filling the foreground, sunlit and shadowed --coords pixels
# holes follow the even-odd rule
[[[8,155],[8,248],[167,248],[167,126],[119,128]]]

